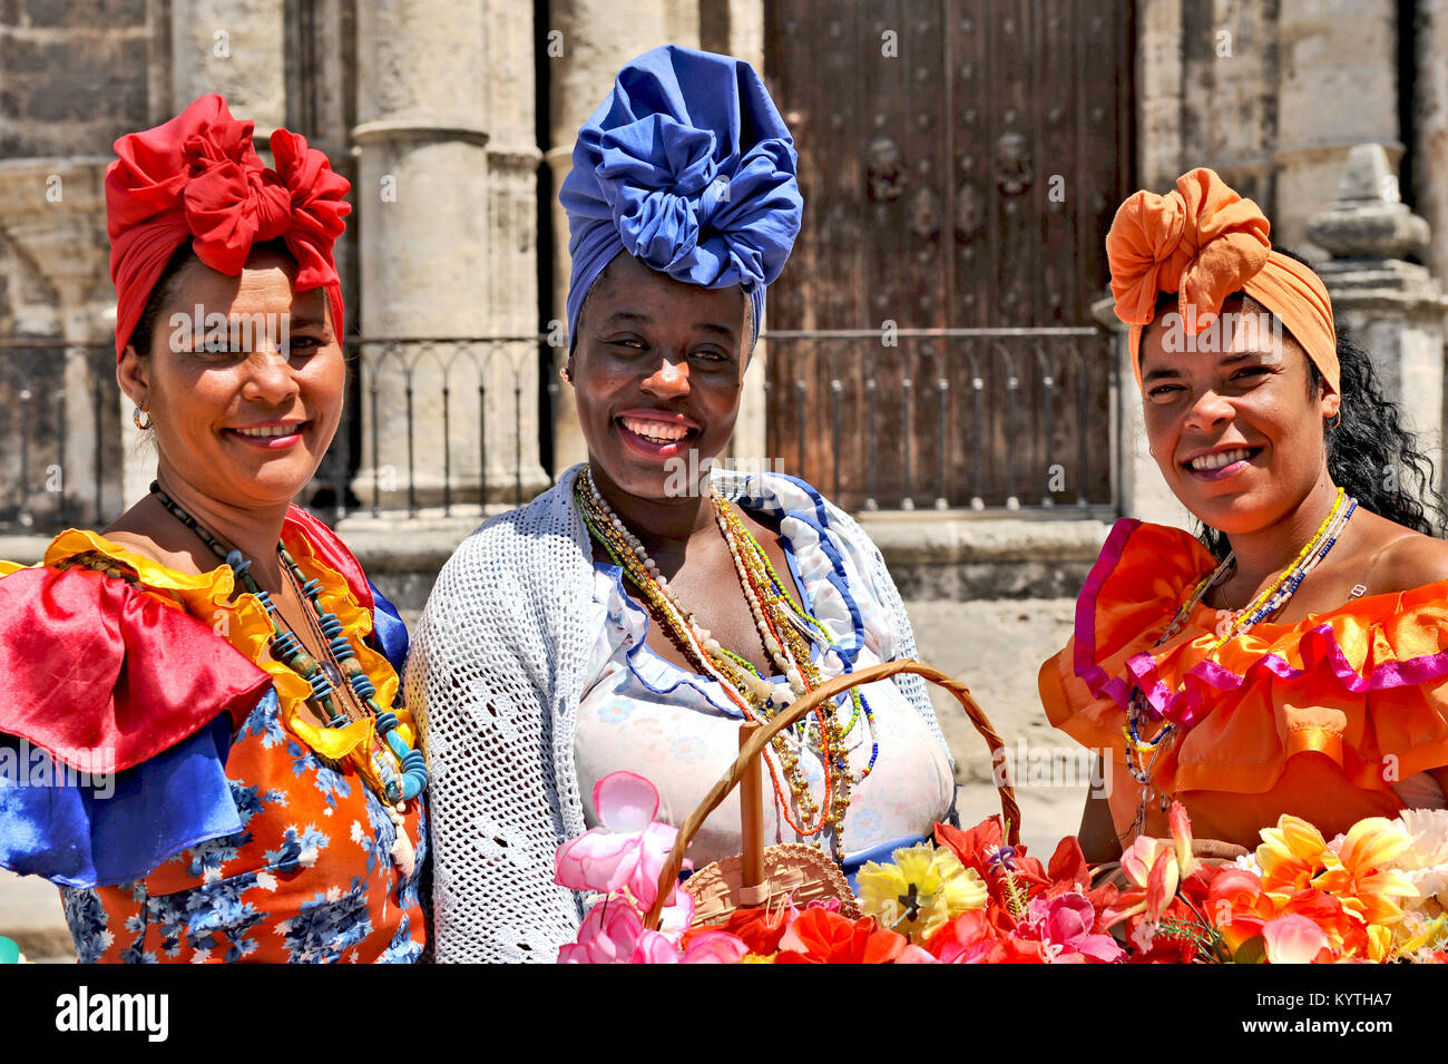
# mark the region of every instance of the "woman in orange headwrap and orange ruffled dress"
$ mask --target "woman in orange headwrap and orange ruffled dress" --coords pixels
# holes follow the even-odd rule
[[[1087,856],[1166,835],[1171,799],[1216,856],[1281,814],[1331,837],[1442,808],[1442,502],[1371,358],[1211,169],[1132,195],[1106,253],[1151,453],[1202,536],[1119,521],[1041,667],[1051,722],[1106,769]]]

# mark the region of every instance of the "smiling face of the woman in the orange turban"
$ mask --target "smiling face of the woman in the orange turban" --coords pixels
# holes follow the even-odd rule
[[[1323,420],[1339,397],[1310,387],[1306,353],[1280,327],[1260,327],[1267,316],[1253,300],[1228,300],[1211,339],[1184,337],[1170,310],[1141,337],[1157,466],[1202,523],[1228,534],[1266,528],[1325,476]]]

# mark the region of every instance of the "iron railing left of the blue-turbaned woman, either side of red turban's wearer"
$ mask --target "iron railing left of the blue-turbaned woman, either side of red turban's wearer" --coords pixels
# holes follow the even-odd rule
[[[546,337],[365,337],[346,355],[343,421],[303,494],[324,518],[481,512],[552,484]],[[140,446],[123,405],[110,345],[0,340],[0,531],[119,515],[125,453]]]

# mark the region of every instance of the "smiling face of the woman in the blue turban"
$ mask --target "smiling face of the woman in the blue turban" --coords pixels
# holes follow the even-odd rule
[[[683,284],[627,253],[599,275],[579,314],[571,378],[601,479],[662,499],[691,450],[702,465],[724,449],[752,339],[747,303],[737,287]]]

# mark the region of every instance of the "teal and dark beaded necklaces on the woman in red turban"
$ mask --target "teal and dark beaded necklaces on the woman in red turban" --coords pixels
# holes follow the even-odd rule
[[[410,876],[413,873],[414,850],[411,840],[407,837],[403,814],[405,812],[405,803],[417,798],[427,788],[427,761],[420,751],[408,747],[398,734],[397,715],[382,709],[376,704],[376,688],[362,667],[356,650],[343,634],[340,618],[321,605],[321,582],[308,579],[287,547],[281,543],[277,544],[282,572],[297,592],[297,598],[310,607],[308,621],[326,656],[326,660],[319,663],[307,653],[306,646],[294,631],[290,628],[282,631],[278,625],[278,621],[285,624],[285,620],[281,618],[271,595],[248,572],[252,559],[245,557],[239,550],[226,549],[210,530],[167,495],[155,481],[151,482],[151,494],[156,497],[172,517],[195,533],[213,554],[224,560],[230,566],[236,582],[245,586],[262,604],[266,609],[266,620],[272,627],[272,637],[268,643],[272,657],[307,680],[311,686],[311,696],[307,701],[321,711],[327,727],[343,728],[352,724],[353,719],[358,719],[348,712],[348,701],[340,693],[343,691],[352,696],[353,705],[361,712],[374,717],[372,743],[366,750],[353,750],[352,760],[362,770],[362,779],[387,806],[388,815],[397,827],[392,860],[403,870],[403,874]],[[342,705],[337,705],[339,702]],[[376,779],[376,783],[372,782],[372,777]]]

